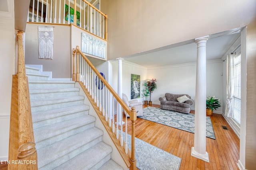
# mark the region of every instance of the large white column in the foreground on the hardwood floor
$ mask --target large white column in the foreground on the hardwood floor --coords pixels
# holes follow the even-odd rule
[[[206,41],[209,36],[196,38],[196,100],[195,100],[195,135],[191,155],[209,162],[206,152]]]

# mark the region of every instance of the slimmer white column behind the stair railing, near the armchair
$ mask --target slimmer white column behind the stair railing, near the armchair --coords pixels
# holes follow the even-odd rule
[[[122,58],[118,58],[118,96],[122,99],[122,96],[123,96],[123,84],[122,84],[122,81],[123,81],[123,76],[122,76],[122,61],[124,59]],[[124,122],[121,120],[121,116],[122,116],[122,107],[119,103],[118,104],[118,110],[117,110],[117,113],[118,114],[118,120],[117,123],[118,125],[122,125],[124,124]],[[122,124],[121,124],[122,123]]]

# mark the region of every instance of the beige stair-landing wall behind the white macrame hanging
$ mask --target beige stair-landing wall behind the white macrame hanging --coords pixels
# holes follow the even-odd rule
[[[38,59],[38,26],[54,26],[53,58]],[[71,78],[71,46],[69,25],[32,24],[26,26],[25,63],[43,65],[52,78]]]

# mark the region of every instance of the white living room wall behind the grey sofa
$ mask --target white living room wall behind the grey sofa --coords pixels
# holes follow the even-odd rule
[[[206,64],[206,96],[216,96],[222,105],[222,61],[212,60]],[[160,104],[159,97],[165,93],[188,94],[195,100],[196,63],[176,64],[164,67],[148,68],[148,78],[156,78],[157,89],[152,93],[152,102]],[[195,108],[195,102],[192,109]],[[214,110],[222,113],[222,107]]]

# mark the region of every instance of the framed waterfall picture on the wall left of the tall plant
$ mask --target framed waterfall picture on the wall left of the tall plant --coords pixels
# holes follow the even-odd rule
[[[140,98],[140,75],[131,74],[131,99]]]

